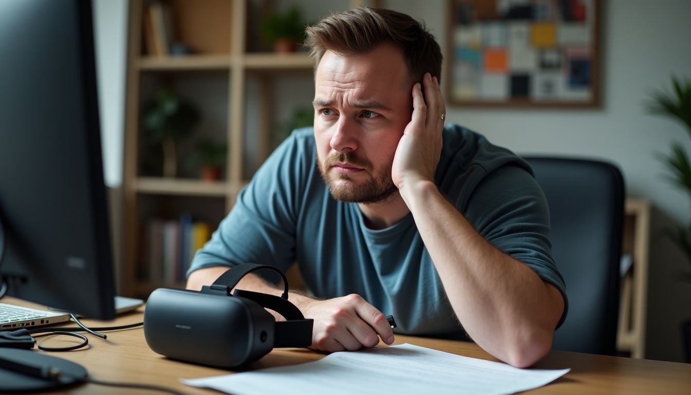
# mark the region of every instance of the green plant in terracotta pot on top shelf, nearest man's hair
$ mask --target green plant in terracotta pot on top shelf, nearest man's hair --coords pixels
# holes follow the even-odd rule
[[[305,41],[305,23],[300,8],[292,6],[285,12],[271,12],[261,21],[261,33],[277,53],[291,53]]]

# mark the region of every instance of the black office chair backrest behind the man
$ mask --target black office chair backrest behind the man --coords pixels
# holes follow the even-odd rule
[[[553,349],[614,355],[624,181],[596,160],[525,158],[547,196],[552,254],[569,297]]]

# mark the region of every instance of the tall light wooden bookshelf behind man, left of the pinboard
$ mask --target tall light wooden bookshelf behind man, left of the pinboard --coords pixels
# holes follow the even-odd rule
[[[170,275],[149,273],[154,233],[151,223],[180,221],[184,214],[194,223],[205,223],[211,231],[215,230],[234,205],[237,194],[269,156],[281,120],[288,118],[298,105],[311,107],[312,59],[305,52],[284,55],[267,50],[258,39],[262,15],[296,4],[302,8],[305,20],[314,22],[331,11],[381,6],[379,1],[366,0],[155,3],[169,12],[166,17],[169,26],[173,26],[173,38],[193,52],[169,55],[153,48],[152,3],[130,1],[121,292],[144,299],[158,287],[184,286],[180,275],[171,279]],[[167,42],[169,50],[170,45]],[[302,95],[295,95],[296,89],[290,84],[300,84]],[[141,127],[146,102],[162,86],[172,86],[201,113],[191,135],[178,143],[176,176],[163,176],[152,165],[160,163],[160,158],[156,158],[158,153],[152,151]],[[194,170],[182,166],[202,139],[227,147],[222,176],[216,181],[202,181]],[[178,232],[183,232],[182,227]],[[182,258],[179,262],[180,266],[187,264]],[[177,273],[184,272],[183,267],[178,269]]]

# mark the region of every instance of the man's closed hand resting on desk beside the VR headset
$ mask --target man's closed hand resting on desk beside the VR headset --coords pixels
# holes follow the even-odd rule
[[[360,295],[328,300],[314,300],[301,306],[305,318],[314,319],[312,349],[321,351],[355,351],[375,347],[379,338],[390,345],[393,331],[386,315]]]

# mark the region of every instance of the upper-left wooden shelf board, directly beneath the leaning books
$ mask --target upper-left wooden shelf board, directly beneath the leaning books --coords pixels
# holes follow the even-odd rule
[[[231,64],[231,55],[148,56],[137,62],[140,71],[227,70]]]

